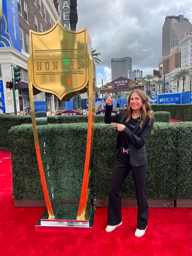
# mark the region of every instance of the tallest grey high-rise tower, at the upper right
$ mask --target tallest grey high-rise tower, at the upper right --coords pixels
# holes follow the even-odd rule
[[[192,32],[192,24],[183,15],[166,16],[162,32],[162,56],[166,56],[170,54],[171,48],[179,45],[185,33]]]

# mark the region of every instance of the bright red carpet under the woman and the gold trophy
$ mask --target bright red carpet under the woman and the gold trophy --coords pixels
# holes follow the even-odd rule
[[[8,157],[8,158],[6,158]],[[137,208],[122,208],[123,225],[106,233],[107,208],[93,231],[35,230],[44,207],[14,207],[9,152],[0,152],[1,256],[191,256],[192,209],[149,209],[146,234],[135,238]]]

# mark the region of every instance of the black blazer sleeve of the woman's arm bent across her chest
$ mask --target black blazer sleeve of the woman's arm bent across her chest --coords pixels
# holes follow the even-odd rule
[[[151,134],[151,131],[153,129],[153,125],[155,122],[155,118],[152,117],[152,121],[149,124],[149,117],[146,118],[146,122],[143,124],[143,128],[139,129],[141,130],[140,132],[137,132],[137,134],[134,134],[134,130],[130,131],[127,127],[122,131],[125,137],[128,138],[130,143],[135,145],[136,147],[143,147],[146,143],[146,140],[148,139],[149,135]]]

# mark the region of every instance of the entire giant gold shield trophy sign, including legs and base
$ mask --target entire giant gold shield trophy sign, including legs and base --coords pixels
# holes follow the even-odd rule
[[[33,135],[41,184],[47,210],[36,229],[90,228],[87,201],[89,194],[90,160],[93,143],[95,65],[91,57],[91,39],[88,29],[65,29],[59,21],[46,32],[30,30],[30,57],[28,82]],[[58,203],[55,174],[51,171],[51,149],[48,146],[45,92],[55,94],[61,101],[89,91],[89,116],[82,191],[76,219],[59,219],[64,216]],[[67,138],[66,138],[67,139]]]

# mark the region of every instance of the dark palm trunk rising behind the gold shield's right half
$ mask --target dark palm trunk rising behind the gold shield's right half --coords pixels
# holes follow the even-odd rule
[[[77,15],[77,0],[71,0],[70,1],[70,13],[69,13],[69,20],[71,25],[71,30],[76,30],[76,25],[78,21],[78,15]],[[73,101],[73,109],[77,110],[81,108],[81,99],[79,100],[80,95],[74,96]]]

